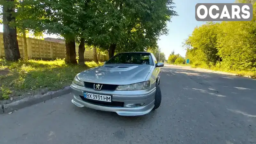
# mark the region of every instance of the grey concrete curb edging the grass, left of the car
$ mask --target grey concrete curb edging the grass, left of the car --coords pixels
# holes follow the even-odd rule
[[[71,87],[67,86],[67,87],[65,87],[61,90],[58,90],[58,91],[47,92],[43,95],[38,94],[38,95],[35,95],[33,97],[27,97],[27,98],[24,98],[22,100],[14,101],[14,102],[9,103],[9,104],[4,104],[4,105],[1,106],[2,110],[0,110],[0,114],[9,113],[9,112],[12,112],[14,110],[18,110],[20,108],[25,108],[25,107],[43,102],[45,100],[50,100],[52,98],[56,98],[56,97],[59,97],[59,96],[64,95],[64,94],[68,94],[71,91],[72,91]]]

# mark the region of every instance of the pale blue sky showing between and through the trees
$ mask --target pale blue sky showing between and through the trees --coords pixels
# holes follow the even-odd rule
[[[157,42],[161,52],[164,52],[166,59],[168,59],[172,51],[185,57],[186,51],[182,48],[182,43],[192,34],[196,26],[205,23],[203,21],[196,21],[195,6],[197,3],[234,3],[235,0],[173,0],[173,2],[176,6],[174,11],[179,16],[173,17],[171,19],[172,22],[168,22],[169,34],[167,36],[160,36]],[[3,32],[3,25],[0,25],[0,32]],[[56,38],[56,35],[44,35],[44,37]]]

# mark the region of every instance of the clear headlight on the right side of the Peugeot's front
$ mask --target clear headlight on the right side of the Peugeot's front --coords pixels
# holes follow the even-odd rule
[[[136,91],[136,90],[146,90],[150,88],[150,81],[136,83],[136,84],[127,84],[119,85],[117,91]]]

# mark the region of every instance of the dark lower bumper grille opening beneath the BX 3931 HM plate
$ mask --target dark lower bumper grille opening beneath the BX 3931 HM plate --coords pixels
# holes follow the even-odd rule
[[[99,100],[91,100],[91,99],[86,99],[81,95],[80,95],[80,98],[85,102],[88,102],[94,105],[124,107],[124,102],[119,102],[119,101],[105,102],[105,101],[99,101]]]

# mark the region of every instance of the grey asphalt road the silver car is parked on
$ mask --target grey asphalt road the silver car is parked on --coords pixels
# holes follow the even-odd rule
[[[0,144],[256,143],[256,80],[169,66],[160,83],[146,116],[78,108],[71,94],[0,115]]]

